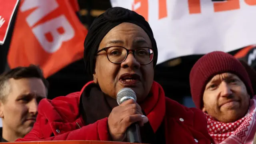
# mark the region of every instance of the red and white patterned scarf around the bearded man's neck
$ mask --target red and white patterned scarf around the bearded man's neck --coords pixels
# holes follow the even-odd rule
[[[256,97],[247,114],[236,122],[224,123],[206,114],[207,128],[216,144],[252,144],[256,132]]]

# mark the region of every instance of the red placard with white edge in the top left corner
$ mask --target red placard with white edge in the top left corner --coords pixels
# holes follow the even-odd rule
[[[0,45],[4,44],[18,2],[19,0],[0,0]]]

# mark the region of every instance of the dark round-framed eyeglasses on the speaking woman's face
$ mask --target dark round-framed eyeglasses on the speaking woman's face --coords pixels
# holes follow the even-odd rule
[[[97,54],[102,51],[106,51],[108,60],[114,64],[120,64],[124,62],[130,52],[132,52],[135,59],[140,64],[149,64],[152,62],[154,57],[154,51],[152,48],[148,47],[139,47],[135,50],[128,50],[122,46],[110,46],[98,50]]]

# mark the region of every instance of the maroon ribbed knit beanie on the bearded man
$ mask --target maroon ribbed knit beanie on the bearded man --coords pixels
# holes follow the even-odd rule
[[[252,84],[244,66],[234,56],[215,51],[202,56],[190,71],[190,91],[196,108],[201,109],[203,106],[206,84],[213,76],[224,72],[236,74],[244,82],[247,92],[252,98]]]

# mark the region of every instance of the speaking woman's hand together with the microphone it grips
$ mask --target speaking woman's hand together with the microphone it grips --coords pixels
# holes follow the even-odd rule
[[[136,125],[143,126],[148,122],[148,118],[136,103],[135,92],[130,88],[123,88],[117,94],[117,102],[119,106],[113,108],[108,116],[108,129],[112,140],[121,141],[127,130],[128,139],[137,141],[140,133]]]

